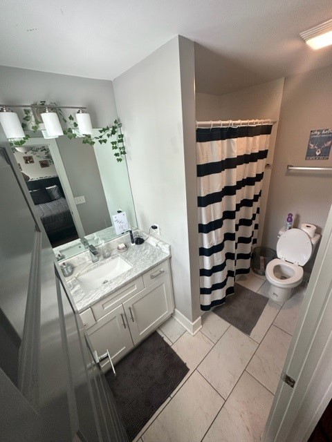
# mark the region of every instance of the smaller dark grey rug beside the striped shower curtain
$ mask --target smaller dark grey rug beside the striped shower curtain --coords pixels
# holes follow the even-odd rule
[[[225,304],[219,305],[219,307],[213,309],[213,312],[250,336],[268,302],[268,298],[246,289],[240,284],[235,284],[234,290],[234,295],[227,296]]]

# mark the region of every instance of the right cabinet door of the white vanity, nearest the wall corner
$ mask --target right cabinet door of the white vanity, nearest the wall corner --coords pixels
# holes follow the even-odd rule
[[[172,286],[169,276],[154,282],[123,303],[133,343],[137,344],[172,313]]]

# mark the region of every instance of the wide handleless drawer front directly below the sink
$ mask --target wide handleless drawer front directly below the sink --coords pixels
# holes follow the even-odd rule
[[[129,284],[124,285],[121,289],[114,291],[111,295],[106,298],[96,302],[95,305],[91,307],[93,311],[93,316],[98,320],[102,318],[102,316],[109,313],[109,311],[115,309],[118,305],[120,305],[124,298],[127,299],[128,296],[133,296],[138,291],[141,291],[144,288],[142,277],[134,279],[129,282]]]

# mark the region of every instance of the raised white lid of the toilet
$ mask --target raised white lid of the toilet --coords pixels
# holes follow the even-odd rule
[[[282,233],[277,242],[278,258],[304,265],[311,257],[313,247],[309,236],[300,229],[290,229]]]

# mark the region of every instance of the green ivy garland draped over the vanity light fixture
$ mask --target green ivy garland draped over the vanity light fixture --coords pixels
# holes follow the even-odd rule
[[[34,103],[37,104],[37,103]],[[46,106],[46,102],[42,101],[39,102],[41,106]],[[48,105],[51,107],[53,105],[57,106],[56,103],[51,103]],[[75,122],[75,119],[73,115],[69,115],[68,119],[64,117],[64,114],[62,112],[61,108],[58,108],[59,115],[61,115],[63,122],[66,124],[66,128],[64,129],[64,135],[68,137],[69,140],[73,140],[75,138],[82,138],[83,144],[89,144],[90,146],[94,146],[95,143],[99,144],[107,144],[108,141],[111,141],[111,137],[115,137],[115,140],[111,141],[112,150],[114,153],[114,156],[116,157],[117,162],[122,162],[123,155],[126,155],[126,148],[124,146],[124,138],[123,134],[121,132],[122,124],[120,123],[120,120],[115,119],[114,124],[112,126],[106,126],[101,129],[99,129],[100,135],[96,135],[94,137],[91,137],[91,135],[80,135],[78,131],[78,124]],[[37,118],[33,116],[33,113],[31,112],[30,108],[24,108],[24,118],[23,122],[21,124],[22,128],[25,131],[33,131],[33,133],[36,133],[39,131],[39,125],[42,124],[41,121],[39,121]],[[15,146],[23,146],[26,141],[30,138],[30,135],[25,135],[20,140],[12,140],[10,142],[10,145],[15,148]]]

